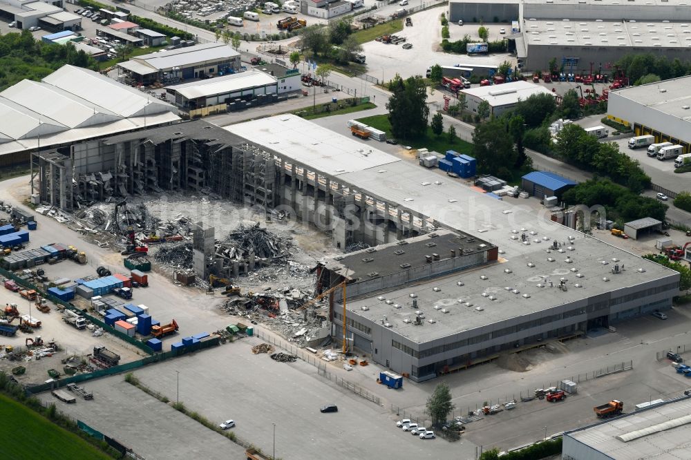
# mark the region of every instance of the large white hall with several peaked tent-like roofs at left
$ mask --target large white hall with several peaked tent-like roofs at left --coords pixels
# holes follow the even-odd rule
[[[177,111],[93,70],[62,66],[0,93],[0,165],[26,164],[37,148],[178,122]]]

